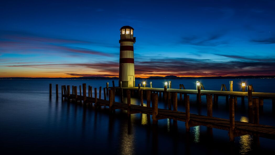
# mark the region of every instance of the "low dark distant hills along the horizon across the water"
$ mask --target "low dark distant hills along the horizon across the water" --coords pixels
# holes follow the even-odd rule
[[[179,77],[174,75],[168,76],[150,76],[147,78],[136,77],[136,79],[260,79],[260,78],[275,78],[272,76],[205,76],[205,77]],[[0,77],[0,79],[119,79],[118,77],[102,77],[102,76],[83,76],[83,77]]]

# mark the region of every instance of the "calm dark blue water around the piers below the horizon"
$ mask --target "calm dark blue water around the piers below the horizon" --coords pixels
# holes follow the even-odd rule
[[[256,92],[273,92],[275,79],[232,79],[233,90],[241,90],[242,81],[253,84]],[[143,80],[137,80],[136,85]],[[153,87],[163,87],[166,80],[147,80]],[[167,80],[168,81],[168,80]],[[200,80],[207,90],[220,90],[221,84],[229,89],[230,79]],[[267,154],[275,153],[275,140],[244,135],[235,138],[234,146],[229,143],[228,131],[207,127],[191,127],[190,135],[185,132],[185,122],[162,119],[158,127],[152,126],[151,116],[132,114],[101,107],[84,108],[82,104],[67,103],[61,97],[56,100],[55,84],[105,87],[111,80],[0,80],[0,139],[1,154]],[[49,83],[53,84],[53,96],[49,98]],[[115,80],[117,86],[117,80]],[[196,79],[172,80],[172,88],[184,84],[186,89],[196,88]],[[79,91],[78,91],[79,93]],[[102,92],[103,95],[103,92]],[[116,97],[119,101],[119,97]],[[146,101],[144,101],[146,103]],[[132,104],[139,104],[132,98]],[[190,95],[191,113],[206,115],[206,99],[196,105],[196,95]],[[168,108],[162,101],[159,108]],[[178,103],[178,111],[185,111]],[[228,118],[225,97],[219,97],[218,106],[213,106],[213,116]],[[271,100],[264,100],[260,111],[260,124],[274,125],[275,114]],[[235,109],[237,121],[249,122],[247,98]]]

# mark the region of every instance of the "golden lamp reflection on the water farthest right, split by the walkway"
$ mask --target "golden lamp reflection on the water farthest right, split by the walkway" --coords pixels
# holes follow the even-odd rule
[[[240,121],[249,122],[249,119],[248,117],[242,116]],[[252,142],[253,139],[251,135],[240,136],[240,154],[247,154],[249,151],[251,151]]]

